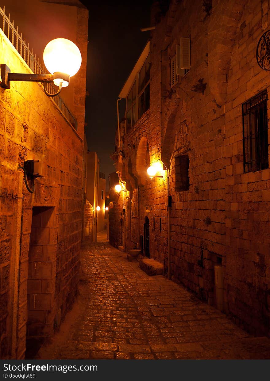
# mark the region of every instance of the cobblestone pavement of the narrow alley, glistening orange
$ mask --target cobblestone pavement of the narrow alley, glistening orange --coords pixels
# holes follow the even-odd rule
[[[270,359],[254,338],[108,242],[84,244],[80,295],[40,359]]]

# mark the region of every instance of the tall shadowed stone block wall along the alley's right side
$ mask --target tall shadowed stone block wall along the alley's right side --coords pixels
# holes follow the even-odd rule
[[[116,159],[138,210],[125,219],[127,242],[131,231],[131,245],[140,244],[148,217],[150,257],[164,263],[164,273],[258,335],[269,327],[270,173],[244,173],[242,104],[268,91],[256,45],[269,17],[268,2],[259,0],[213,1],[210,10],[199,0],[172,1],[165,16],[152,14],[150,108],[132,131],[121,130],[124,155]],[[190,37],[191,69],[171,88],[180,37]],[[187,190],[177,177],[184,155]],[[164,179],[143,175],[157,161],[169,179],[166,167]],[[113,219],[110,212],[115,237],[121,208],[114,206]]]

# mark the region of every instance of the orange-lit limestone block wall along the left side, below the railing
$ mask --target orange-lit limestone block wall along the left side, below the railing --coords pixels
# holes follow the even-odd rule
[[[30,72],[5,35],[1,40],[0,61],[11,72]],[[0,115],[1,358],[19,359],[26,335],[51,335],[77,292],[84,136],[39,83],[0,88]],[[33,194],[18,170],[28,159],[43,166]],[[35,220],[39,208],[51,211],[47,221]]]

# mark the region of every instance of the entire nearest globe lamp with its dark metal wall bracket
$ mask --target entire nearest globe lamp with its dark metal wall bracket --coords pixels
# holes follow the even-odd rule
[[[43,61],[51,74],[21,74],[11,73],[5,65],[1,65],[0,86],[10,89],[10,81],[43,82],[44,92],[47,96],[56,96],[62,87],[69,85],[69,78],[76,74],[82,63],[79,48],[66,38],[51,40],[44,49]],[[55,94],[50,94],[45,88],[45,83],[53,82],[58,86]]]

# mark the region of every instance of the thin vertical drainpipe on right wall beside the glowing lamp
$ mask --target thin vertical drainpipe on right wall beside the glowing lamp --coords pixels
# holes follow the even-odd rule
[[[160,51],[160,155],[162,155],[162,53],[168,49],[169,45],[164,50]],[[161,160],[162,162],[162,160]],[[163,163],[163,162],[162,162]],[[170,263],[170,218],[171,218],[171,210],[170,210],[170,204],[169,204],[169,197],[170,197],[170,175],[169,175],[169,169],[167,166],[163,163],[167,170],[167,220],[168,220],[168,279],[171,279],[171,263]]]

